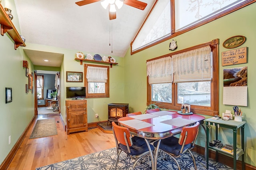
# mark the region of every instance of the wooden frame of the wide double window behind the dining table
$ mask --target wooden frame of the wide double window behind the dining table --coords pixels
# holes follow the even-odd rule
[[[156,57],[153,59],[149,59],[148,61],[152,61],[155,59],[159,59],[162,57],[167,57],[183,53],[186,51],[190,51],[193,49],[197,49],[200,47],[204,47],[206,45],[210,45],[212,49],[212,81],[211,81],[211,106],[198,106],[198,105],[191,105],[191,111],[193,113],[199,113],[203,115],[218,115],[219,110],[219,53],[218,53],[218,44],[219,39],[212,40],[211,42],[203,43],[200,45],[195,45],[193,47],[189,47],[186,49],[182,49],[180,51],[175,51],[173,53],[168,53],[166,55],[162,55],[160,57]],[[159,103],[158,106],[160,108],[164,109],[173,109],[173,110],[180,110],[181,104],[178,104],[178,84],[172,83],[172,103],[165,103],[165,102],[159,102],[159,101],[152,101],[151,100],[151,85],[148,82],[148,76],[147,76],[147,105],[157,102]]]

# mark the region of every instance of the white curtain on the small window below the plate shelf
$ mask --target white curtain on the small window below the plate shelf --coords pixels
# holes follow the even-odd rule
[[[86,78],[88,82],[106,83],[108,79],[108,68],[88,66]]]

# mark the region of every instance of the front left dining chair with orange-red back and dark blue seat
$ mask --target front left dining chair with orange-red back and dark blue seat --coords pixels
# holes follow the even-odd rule
[[[148,156],[148,163],[149,161],[149,150],[148,145],[144,138],[140,138],[138,136],[131,136],[130,130],[127,127],[120,127],[116,125],[115,122],[112,122],[112,130],[114,134],[114,138],[116,140],[116,166],[118,164],[119,155],[122,151],[124,151],[127,156],[130,156],[134,162],[132,170],[134,170],[137,162],[143,158],[144,156]],[[150,149],[154,150],[154,146],[150,144]]]

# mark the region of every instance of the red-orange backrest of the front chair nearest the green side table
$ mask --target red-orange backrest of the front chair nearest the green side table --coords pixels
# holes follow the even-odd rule
[[[196,140],[196,137],[198,134],[199,125],[200,123],[196,122],[196,124],[193,126],[183,127],[180,133],[179,144],[186,145],[193,142],[193,146],[194,146],[194,141]]]

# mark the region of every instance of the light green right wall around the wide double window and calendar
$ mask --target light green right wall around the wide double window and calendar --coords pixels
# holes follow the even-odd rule
[[[219,45],[219,113],[222,114],[226,110],[232,110],[231,105],[223,105],[223,69],[244,67],[248,66],[248,106],[240,107],[243,111],[243,120],[246,121],[245,125],[245,162],[248,164],[256,165],[256,118],[254,116],[254,107],[256,103],[256,3],[250,6],[244,7],[236,12],[228,14],[222,18],[214,20],[208,24],[200,26],[194,30],[186,32],[180,36],[176,36],[173,39],[177,41],[178,49],[192,47],[205,42],[210,42],[214,39],[220,40]],[[246,37],[246,42],[237,48],[248,47],[247,51],[247,63],[239,65],[230,65],[222,67],[221,52],[228,51],[222,46],[222,43],[229,37],[242,35]],[[130,55],[130,49],[128,49],[124,57],[124,76],[125,79],[125,99],[130,104],[130,107],[134,111],[144,111],[146,108],[146,60],[154,57],[159,57],[170,53],[169,43],[171,40],[162,42],[158,45],[150,47],[144,51]],[[206,116],[206,118],[209,118]],[[214,131],[210,131],[213,132]],[[222,142],[228,142],[232,144],[232,130],[221,130],[220,140]],[[240,137],[240,132],[238,132]],[[199,143],[204,146],[205,134],[201,130],[200,137],[202,139]],[[240,138],[238,138],[239,140]],[[239,140],[240,141],[240,140]],[[241,143],[238,143],[241,145]]]

